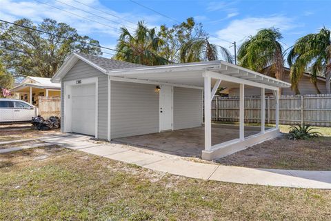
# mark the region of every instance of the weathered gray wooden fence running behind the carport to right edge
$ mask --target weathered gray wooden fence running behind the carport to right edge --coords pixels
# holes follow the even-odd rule
[[[275,100],[265,96],[265,123],[275,123]],[[245,122],[261,122],[261,98],[245,97]],[[239,97],[212,99],[212,121],[239,122]],[[281,95],[279,124],[331,126],[331,95]]]

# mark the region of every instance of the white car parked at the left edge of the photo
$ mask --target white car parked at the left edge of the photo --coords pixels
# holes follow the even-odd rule
[[[20,99],[0,98],[0,123],[27,122],[37,117],[38,108]]]

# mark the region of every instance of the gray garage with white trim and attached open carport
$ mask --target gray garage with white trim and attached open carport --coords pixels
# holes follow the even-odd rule
[[[202,158],[206,160],[279,135],[278,90],[290,86],[225,61],[141,66],[76,52],[59,68],[52,82],[61,82],[61,131],[104,140],[199,127],[204,101],[201,132],[205,140]],[[261,133],[244,137],[241,93],[239,139],[212,143],[211,99],[219,86],[228,84],[273,90],[276,128],[267,131],[263,124]]]

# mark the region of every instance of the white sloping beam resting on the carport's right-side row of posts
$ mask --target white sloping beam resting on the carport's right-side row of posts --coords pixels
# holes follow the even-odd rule
[[[253,86],[253,87],[257,87],[257,88],[267,88],[270,90],[279,90],[279,88],[274,87],[274,86],[270,86],[267,84],[262,84],[262,83],[258,83],[258,82],[254,82],[254,81],[249,81],[249,80],[241,79],[241,78],[237,78],[237,77],[232,77],[229,75],[223,75],[220,73],[212,72],[210,70],[206,70],[203,75],[205,77],[208,76],[208,77],[212,77],[214,79],[221,79],[223,81],[230,81],[230,82],[234,82],[237,84],[245,84],[245,85],[249,85],[249,86]]]

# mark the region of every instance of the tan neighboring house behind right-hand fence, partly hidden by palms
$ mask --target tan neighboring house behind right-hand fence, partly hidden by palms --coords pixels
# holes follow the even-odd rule
[[[265,75],[274,77],[274,73],[265,73]],[[284,79],[283,81],[291,83],[290,80],[290,68],[284,67]],[[326,93],[325,78],[317,77],[317,87],[319,88],[322,94]],[[310,81],[310,74],[303,73],[299,81],[299,90],[301,95],[315,95],[318,93],[312,81]],[[239,96],[239,86],[232,86],[225,88],[220,91],[220,93],[228,94],[229,97]],[[266,94],[272,95],[271,91],[265,90]],[[260,88],[245,88],[245,96],[257,96],[260,95]],[[291,88],[283,88],[281,90],[281,95],[295,95],[294,91]]]

